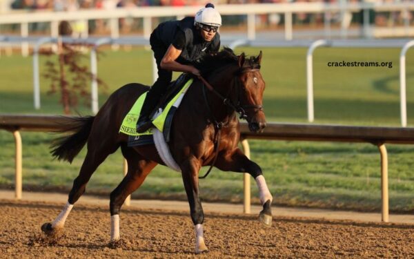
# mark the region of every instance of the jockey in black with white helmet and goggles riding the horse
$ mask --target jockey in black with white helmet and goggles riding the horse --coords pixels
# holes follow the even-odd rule
[[[195,17],[186,17],[181,21],[160,23],[152,32],[150,45],[154,51],[158,68],[158,79],[147,93],[137,122],[137,132],[144,133],[152,126],[150,115],[155,109],[172,79],[172,71],[192,73],[200,72],[193,66],[206,53],[217,52],[220,48],[221,16],[213,3],[201,8]]]

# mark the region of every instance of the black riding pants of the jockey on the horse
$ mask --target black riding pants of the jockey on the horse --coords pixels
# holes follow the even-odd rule
[[[141,115],[150,116],[150,113],[157,106],[159,99],[166,93],[168,84],[172,79],[172,71],[162,69],[161,60],[167,52],[166,47],[162,44],[154,34],[150,37],[151,49],[154,52],[155,62],[158,68],[158,79],[147,93],[145,102],[142,106]]]

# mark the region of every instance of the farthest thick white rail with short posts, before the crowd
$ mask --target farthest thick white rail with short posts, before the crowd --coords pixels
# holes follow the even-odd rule
[[[119,37],[119,18],[142,18],[144,21],[144,37],[149,38],[152,23],[152,17],[184,17],[194,15],[201,6],[186,6],[186,7],[137,7],[137,8],[117,8],[115,10],[79,10],[77,12],[19,12],[3,14],[0,16],[0,24],[17,23],[21,25],[21,37],[28,37],[29,23],[49,22],[50,34],[52,37],[57,37],[59,21],[82,21],[88,24],[87,21],[95,19],[109,19],[110,20],[110,36],[112,38]],[[247,16],[247,36],[248,39],[256,38],[256,15],[262,14],[282,14],[284,15],[284,29],[286,40],[293,39],[293,19],[292,15],[300,12],[305,13],[324,13],[324,17],[328,17],[329,13],[340,12],[341,15],[341,33],[342,37],[347,37],[346,31],[346,13],[363,11],[362,33],[363,37],[370,38],[377,35],[376,28],[369,24],[369,12],[391,12],[401,11],[409,12],[414,10],[413,3],[259,3],[259,4],[244,4],[244,5],[217,5],[217,10],[221,15],[246,15]],[[224,26],[226,26],[224,24]],[[87,27],[87,26],[86,26]],[[371,28],[373,27],[373,28]],[[404,30],[403,35],[410,36],[414,33],[410,30],[409,16],[404,16]],[[331,21],[325,19],[324,21],[325,37],[330,38],[331,35]],[[87,28],[85,28],[87,30]],[[380,28],[378,28],[380,30]],[[386,31],[385,35],[394,35],[393,31]],[[87,35],[88,32],[83,32]],[[384,34],[381,34],[384,36]],[[400,35],[401,36],[401,35]],[[28,55],[28,44],[22,42],[22,54]]]

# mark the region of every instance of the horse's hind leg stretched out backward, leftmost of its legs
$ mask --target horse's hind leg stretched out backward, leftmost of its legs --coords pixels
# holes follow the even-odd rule
[[[88,146],[88,153],[86,154],[85,160],[83,160],[83,164],[81,166],[81,170],[79,171],[79,175],[73,181],[72,189],[70,190],[68,202],[66,202],[65,207],[57,218],[51,223],[45,223],[41,226],[41,230],[48,234],[54,235],[56,231],[63,229],[66,218],[70,211],[72,210],[73,204],[79,200],[81,195],[85,192],[86,184],[90,180],[92,173],[95,172],[99,164],[101,164],[110,153],[113,153],[117,150],[115,146],[112,148],[93,148],[92,146]]]

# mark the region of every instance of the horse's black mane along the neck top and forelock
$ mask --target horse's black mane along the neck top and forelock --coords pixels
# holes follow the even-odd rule
[[[244,52],[241,54],[244,55]],[[210,75],[217,68],[227,66],[229,64],[237,64],[239,56],[235,55],[235,52],[231,48],[224,47],[223,50],[219,52],[213,52],[208,55],[205,55],[201,60],[195,64],[195,67],[200,70],[201,75],[206,76]],[[255,63],[254,57],[246,58],[244,67],[251,66],[252,68],[259,64]]]

